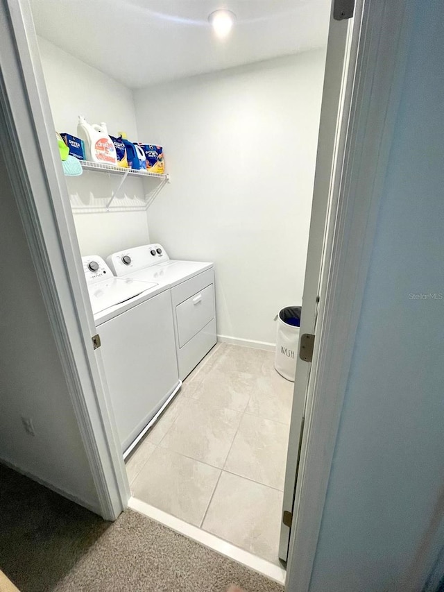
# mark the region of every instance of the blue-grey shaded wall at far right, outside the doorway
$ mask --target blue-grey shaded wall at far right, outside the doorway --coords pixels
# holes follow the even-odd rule
[[[409,589],[443,520],[444,5],[416,7],[311,592]]]

